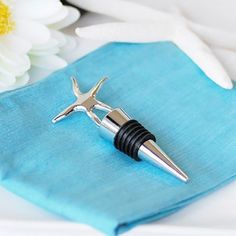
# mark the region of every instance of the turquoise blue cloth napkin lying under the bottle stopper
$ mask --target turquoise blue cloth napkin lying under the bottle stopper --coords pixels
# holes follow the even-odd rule
[[[82,113],[52,124],[74,101],[70,76],[156,134],[190,177],[185,184],[135,162]],[[236,176],[236,90],[224,90],[171,43],[109,44],[45,80],[0,95],[0,184],[106,234],[158,220]]]

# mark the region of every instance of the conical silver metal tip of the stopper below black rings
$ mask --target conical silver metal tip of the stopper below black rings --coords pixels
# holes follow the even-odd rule
[[[143,143],[139,149],[138,156],[140,159],[166,170],[183,182],[189,180],[188,176],[152,140]]]

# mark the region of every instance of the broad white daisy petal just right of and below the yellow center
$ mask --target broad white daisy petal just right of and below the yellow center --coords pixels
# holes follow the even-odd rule
[[[25,40],[28,40],[32,45],[46,43],[50,38],[48,28],[35,21],[16,20],[15,33]]]

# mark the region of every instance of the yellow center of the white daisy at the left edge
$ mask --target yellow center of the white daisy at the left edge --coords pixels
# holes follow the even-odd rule
[[[8,34],[14,29],[14,26],[9,6],[0,0],[0,35]]]

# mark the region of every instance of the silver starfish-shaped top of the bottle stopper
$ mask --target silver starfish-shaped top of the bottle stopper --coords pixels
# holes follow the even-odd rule
[[[93,109],[98,109],[102,111],[110,112],[112,109],[110,106],[100,102],[96,99],[96,95],[100,90],[103,83],[106,81],[107,78],[101,79],[93,88],[91,88],[87,93],[81,93],[79,89],[79,85],[77,80],[72,77],[72,87],[74,95],[77,97],[77,100],[67,107],[64,111],[59,113],[55,118],[53,118],[52,122],[56,123],[65,117],[69,116],[73,112],[82,111],[86,112],[87,115],[91,118],[92,121],[95,122],[97,126],[100,126],[101,120],[99,117],[93,113]]]

